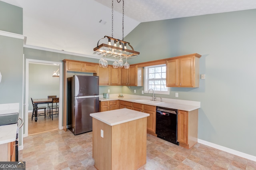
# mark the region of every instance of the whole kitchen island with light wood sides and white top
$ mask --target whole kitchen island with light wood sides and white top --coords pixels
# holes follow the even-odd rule
[[[130,109],[91,113],[92,157],[98,170],[136,170],[146,164],[147,117]]]

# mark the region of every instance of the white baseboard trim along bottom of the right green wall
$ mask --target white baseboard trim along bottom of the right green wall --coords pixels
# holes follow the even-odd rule
[[[230,154],[240,156],[242,158],[246,158],[246,159],[249,159],[249,160],[256,161],[256,156],[249,155],[249,154],[246,154],[246,153],[243,153],[243,152],[239,152],[239,151],[234,150],[234,149],[226,148],[224,146],[220,146],[218,144],[214,144],[214,143],[211,143],[211,142],[208,142],[208,141],[205,141],[205,140],[198,139],[197,141],[198,141],[198,143],[204,144],[206,146],[210,146],[212,148],[216,148],[216,149],[228,152]]]

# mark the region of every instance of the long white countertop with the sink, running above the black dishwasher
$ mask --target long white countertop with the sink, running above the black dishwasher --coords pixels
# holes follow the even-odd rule
[[[135,95],[133,95],[135,96]],[[151,97],[152,98],[152,97]],[[186,100],[178,100],[178,99],[163,99],[163,101],[166,100],[166,102],[160,102],[160,103],[146,103],[141,102],[137,100],[141,100],[138,98],[131,98],[131,97],[110,97],[109,99],[106,98],[100,98],[100,101],[111,101],[111,100],[122,100],[122,101],[129,101],[134,103],[141,103],[144,105],[152,105],[152,106],[159,106],[159,107],[165,107],[169,109],[177,109],[182,111],[193,111],[200,108],[200,102],[197,101],[186,101]]]

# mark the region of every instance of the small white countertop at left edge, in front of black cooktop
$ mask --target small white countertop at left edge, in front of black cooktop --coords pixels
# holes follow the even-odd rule
[[[16,140],[17,124],[0,126],[0,144]]]

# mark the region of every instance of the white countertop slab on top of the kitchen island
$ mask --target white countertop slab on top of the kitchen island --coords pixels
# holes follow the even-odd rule
[[[91,113],[91,117],[106,123],[107,125],[114,126],[121,123],[126,123],[129,121],[134,121],[136,119],[141,119],[148,117],[148,113],[142,113],[139,111],[134,111],[131,109],[116,109],[112,111]]]

